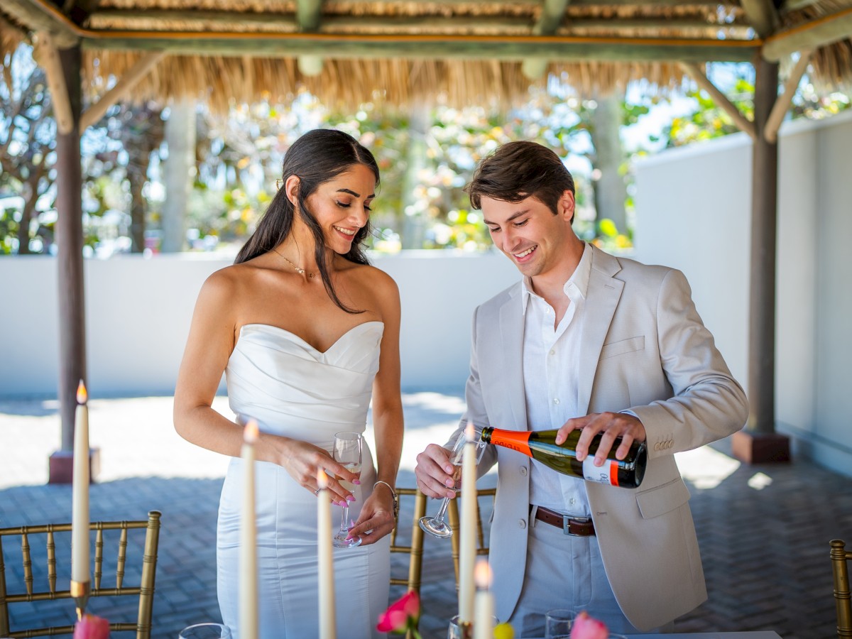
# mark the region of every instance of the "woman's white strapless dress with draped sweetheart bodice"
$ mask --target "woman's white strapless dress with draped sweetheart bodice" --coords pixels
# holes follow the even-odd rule
[[[253,418],[263,432],[308,441],[331,452],[340,431],[363,433],[384,325],[356,325],[320,352],[275,326],[243,326],[228,360],[227,394],[240,423]],[[239,517],[242,460],[233,458],[219,504],[216,537],[219,606],[239,639]],[[354,520],[376,481],[365,446],[361,485],[349,509]],[[319,635],[317,499],[281,466],[256,462],[258,585],[261,639]],[[339,525],[341,509],[332,508]],[[389,536],[376,544],[334,549],[337,636],[383,636],[376,631],[388,606]]]

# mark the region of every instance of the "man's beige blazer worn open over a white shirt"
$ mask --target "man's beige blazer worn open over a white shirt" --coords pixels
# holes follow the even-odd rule
[[[520,282],[475,311],[465,419],[477,426],[536,426],[527,423],[523,331]],[[689,491],[673,453],[741,429],[746,395],[696,313],[681,272],[598,249],[579,360],[579,416],[630,409],[648,434],[642,486],[586,484],[609,583],[630,623],[648,630],[707,598]],[[480,474],[494,463],[490,558],[496,614],[509,619],[526,565],[530,459],[488,446]]]

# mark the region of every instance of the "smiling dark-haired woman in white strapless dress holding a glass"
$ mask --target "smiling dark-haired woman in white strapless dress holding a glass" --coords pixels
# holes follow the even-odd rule
[[[238,628],[241,425],[257,421],[258,602],[262,637],[318,634],[317,471],[349,481],[330,455],[335,433],[363,432],[372,398],[377,469],[365,446],[360,485],[330,480],[351,502],[360,547],[334,551],[337,628],[376,633],[389,592],[390,486],[402,447],[400,297],[368,265],[361,243],[379,181],[372,154],[350,135],[314,130],[284,158],[283,183],[233,266],[199,293],[175,392],[185,439],[231,455],[216,540],[222,619]],[[227,377],[237,422],[211,407]]]

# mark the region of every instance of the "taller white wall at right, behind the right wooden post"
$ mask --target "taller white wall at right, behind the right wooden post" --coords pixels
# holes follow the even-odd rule
[[[852,113],[780,132],[776,428],[794,452],[852,475]],[[636,165],[636,257],[680,268],[746,386],[751,141],[745,134]],[[747,389],[746,389],[747,390]]]

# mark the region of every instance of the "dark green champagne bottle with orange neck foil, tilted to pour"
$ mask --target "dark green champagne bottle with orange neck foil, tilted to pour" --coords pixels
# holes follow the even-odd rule
[[[645,477],[648,465],[648,447],[644,442],[634,441],[624,459],[616,459],[615,451],[619,440],[615,440],[603,465],[595,465],[595,453],[601,443],[602,435],[598,433],[591,440],[589,455],[582,461],[577,461],[577,440],[579,430],[572,430],[561,445],[556,445],[556,430],[502,430],[486,426],[482,429],[481,439],[486,444],[504,446],[513,451],[537,459],[545,466],[564,474],[581,477],[585,481],[596,481],[608,486],[636,488]]]

